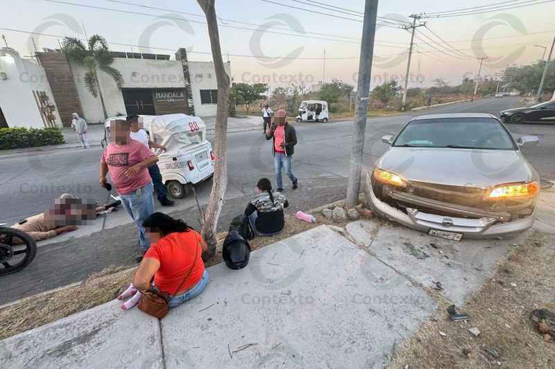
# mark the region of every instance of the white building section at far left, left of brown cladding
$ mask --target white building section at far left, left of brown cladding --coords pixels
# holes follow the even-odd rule
[[[0,48],[0,128],[61,125],[44,68],[11,48]]]

